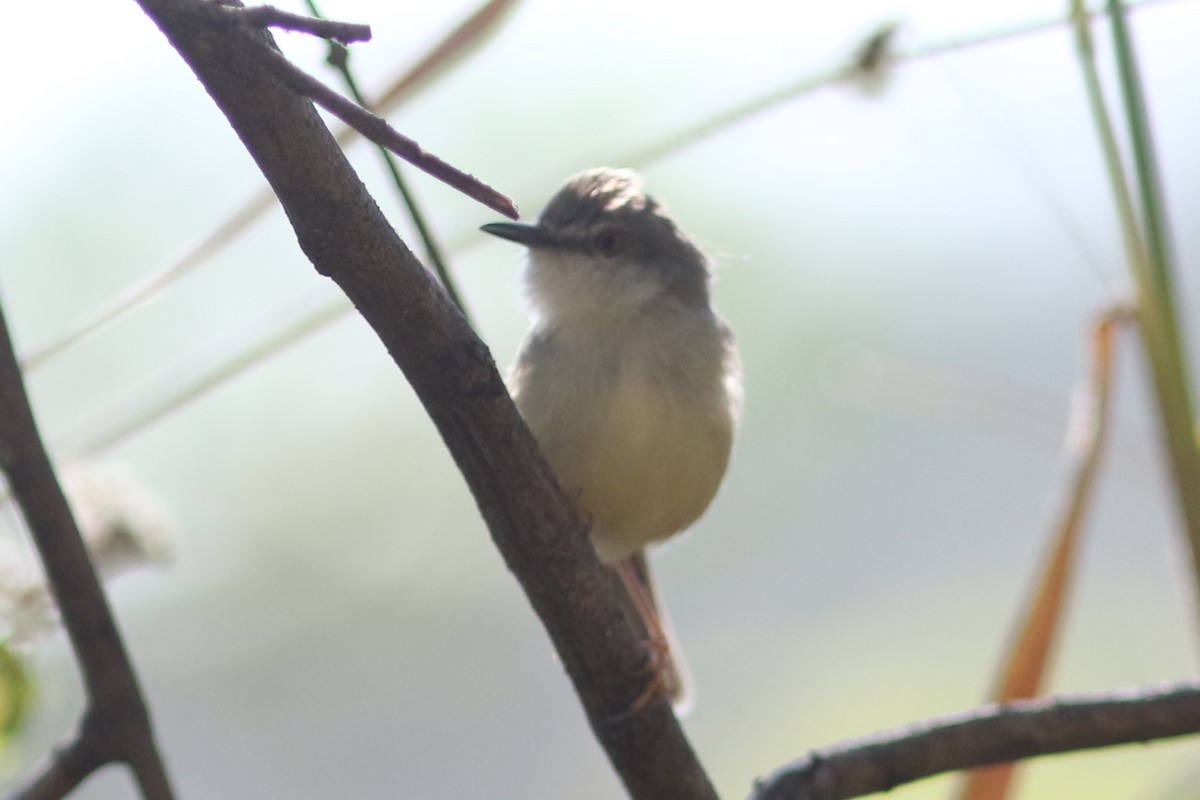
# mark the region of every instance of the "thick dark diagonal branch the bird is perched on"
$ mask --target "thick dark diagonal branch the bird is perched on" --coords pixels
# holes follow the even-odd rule
[[[383,217],[312,104],[266,67],[265,35],[215,30],[194,4],[140,0],[246,144],[317,271],[346,291],[413,385],[630,795],[715,800],[666,698],[628,712],[652,679],[646,632],[491,354]]]

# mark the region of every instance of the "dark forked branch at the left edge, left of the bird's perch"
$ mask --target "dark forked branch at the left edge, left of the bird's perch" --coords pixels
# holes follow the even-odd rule
[[[42,444],[2,308],[0,470],[42,558],[88,696],[76,741],[42,768],[29,796],[52,796],[44,793],[49,787],[78,783],[103,764],[122,762],[134,770],[146,800],[169,800],[142,688]]]

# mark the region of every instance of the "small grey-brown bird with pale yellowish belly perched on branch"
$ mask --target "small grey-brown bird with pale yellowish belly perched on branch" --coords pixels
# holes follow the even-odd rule
[[[482,230],[529,248],[512,396],[658,639],[656,680],[679,710],[690,678],[644,548],[700,518],[733,443],[742,369],[708,259],[626,169],[580,173],[536,224]]]

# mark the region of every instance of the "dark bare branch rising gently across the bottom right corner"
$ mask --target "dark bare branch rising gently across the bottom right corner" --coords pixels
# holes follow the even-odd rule
[[[984,764],[1200,733],[1200,680],[988,705],[817,750],[750,800],[842,800]]]

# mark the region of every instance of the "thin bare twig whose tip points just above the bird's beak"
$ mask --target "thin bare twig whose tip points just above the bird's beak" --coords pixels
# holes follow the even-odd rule
[[[342,97],[288,61],[282,53],[265,42],[258,42],[257,49],[263,66],[270,70],[271,74],[292,91],[313,101],[379,146],[388,148],[388,150],[391,150],[418,169],[428,173],[448,186],[452,186],[473,200],[478,200],[511,219],[518,218],[520,215],[517,213],[516,205],[504,194],[500,194],[474,175],[469,175],[457,167],[448,164],[433,154],[426,152],[421,149],[421,145],[388,125],[386,120]]]

